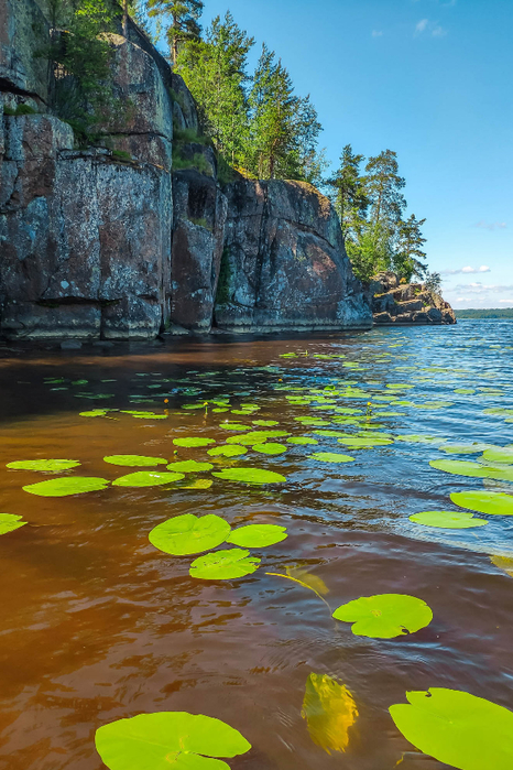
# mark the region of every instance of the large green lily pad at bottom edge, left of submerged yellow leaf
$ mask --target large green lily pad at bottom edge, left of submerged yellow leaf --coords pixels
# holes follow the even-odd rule
[[[229,770],[210,757],[237,757],[251,748],[220,719],[186,712],[138,714],[96,731],[96,748],[109,770]]]

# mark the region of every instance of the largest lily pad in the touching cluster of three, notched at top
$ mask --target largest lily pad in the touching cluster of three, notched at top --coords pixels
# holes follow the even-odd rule
[[[216,549],[230,534],[230,524],[215,513],[196,517],[184,513],[157,524],[149,536],[152,545],[174,556]]]

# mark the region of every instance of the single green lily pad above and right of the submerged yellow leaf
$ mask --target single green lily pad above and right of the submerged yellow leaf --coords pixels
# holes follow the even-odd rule
[[[429,626],[433,611],[422,599],[404,594],[362,596],[338,607],[334,618],[352,622],[359,637],[393,639]]]

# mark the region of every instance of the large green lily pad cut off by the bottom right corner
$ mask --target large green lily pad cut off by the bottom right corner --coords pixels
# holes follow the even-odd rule
[[[459,690],[406,693],[390,715],[415,748],[459,770],[513,768],[513,712]]]

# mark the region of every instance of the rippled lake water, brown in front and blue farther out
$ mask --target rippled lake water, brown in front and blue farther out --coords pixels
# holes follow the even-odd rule
[[[388,709],[404,703],[406,691],[434,686],[513,708],[513,520],[477,513],[489,523],[443,530],[408,517],[461,510],[450,502],[455,491],[513,491],[509,481],[429,466],[480,457],[448,454],[447,443],[513,442],[507,414],[489,412],[513,410],[512,351],[507,321],[78,351],[1,347],[0,510],[29,523],[0,538],[0,766],[100,770],[98,727],[143,712],[185,711],[218,717],[248,738],[251,751],[227,760],[233,770],[392,770],[401,760],[401,770],[447,767],[416,752]],[[236,413],[214,412],[222,404],[183,408],[206,401],[229,401]],[[241,404],[260,409],[237,414],[251,412]],[[79,416],[94,409],[167,419]],[[339,422],[351,419],[341,410],[353,409],[359,423]],[[318,444],[271,438],[286,453],[249,446],[233,459],[173,444],[199,436],[221,445],[237,435],[220,427],[227,420],[249,431],[252,421],[276,421],[277,430]],[[356,449],[315,433],[326,429],[445,441]],[[317,452],[354,462],[309,458]],[[138,470],[103,462],[119,454],[209,460],[216,471],[258,467],[286,482],[249,486],[206,471],[163,487],[53,498],[22,487],[55,475],[6,468],[69,458],[80,467],[57,476],[113,480]],[[198,478],[214,484],[185,488]],[[203,581],[189,576],[196,556],[167,555],[148,539],[156,524],[187,512],[217,513],[232,525],[279,523],[288,538],[251,549],[262,560],[253,574]],[[491,556],[502,557],[500,566]],[[314,576],[324,601],[268,573]],[[433,621],[386,640],[356,636],[330,616],[351,599],[386,593],[425,600]],[[328,753],[307,729],[302,708],[312,673],[345,684],[356,702],[345,752]]]

